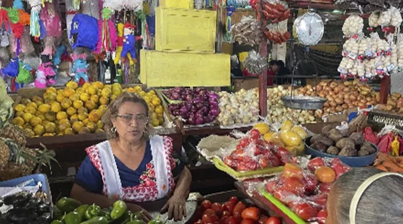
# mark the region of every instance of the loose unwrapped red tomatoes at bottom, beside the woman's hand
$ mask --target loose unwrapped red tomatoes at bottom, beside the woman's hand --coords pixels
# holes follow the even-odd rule
[[[278,217],[267,217],[260,212],[260,209],[247,206],[237,197],[231,197],[225,203],[212,203],[210,200],[201,202],[195,217],[198,219],[193,224],[281,224]]]

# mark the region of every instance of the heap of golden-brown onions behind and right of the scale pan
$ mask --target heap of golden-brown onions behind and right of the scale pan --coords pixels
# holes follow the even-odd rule
[[[326,98],[323,109],[316,110],[315,116],[344,112],[348,108],[366,107],[376,105],[379,102],[379,93],[375,92],[368,84],[360,83],[358,79],[354,81],[322,81],[316,87],[307,85],[297,89],[295,95],[315,96]]]

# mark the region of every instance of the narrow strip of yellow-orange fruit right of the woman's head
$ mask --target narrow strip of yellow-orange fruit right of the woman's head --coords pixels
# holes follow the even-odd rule
[[[164,108],[161,105],[161,100],[158,98],[154,90],[144,92],[140,86],[124,89],[124,91],[136,93],[142,97],[148,104],[150,111],[150,124],[154,127],[162,125],[164,123]]]

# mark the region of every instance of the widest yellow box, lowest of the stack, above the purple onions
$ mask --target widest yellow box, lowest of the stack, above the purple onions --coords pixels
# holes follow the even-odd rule
[[[151,87],[231,85],[230,55],[140,51],[140,79]]]

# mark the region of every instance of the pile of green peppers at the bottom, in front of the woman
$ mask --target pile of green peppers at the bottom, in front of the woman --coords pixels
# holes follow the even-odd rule
[[[111,209],[93,204],[81,204],[79,201],[63,197],[56,203],[51,224],[143,224],[141,212],[127,210],[126,203],[116,201]],[[157,219],[148,224],[163,224]]]

